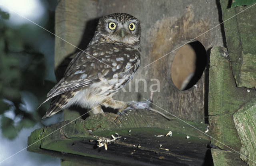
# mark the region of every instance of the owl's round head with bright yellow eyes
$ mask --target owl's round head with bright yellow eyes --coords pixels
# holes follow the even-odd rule
[[[140,44],[140,21],[126,13],[114,13],[100,18],[95,37],[105,43]]]

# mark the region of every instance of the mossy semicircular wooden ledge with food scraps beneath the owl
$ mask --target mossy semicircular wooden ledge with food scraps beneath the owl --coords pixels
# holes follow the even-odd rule
[[[62,158],[66,160],[62,165],[202,165],[208,152],[208,136],[169,118],[170,121],[155,112],[135,110],[122,115],[97,114],[72,123],[64,121],[33,131],[28,137],[28,145],[32,144],[28,151]],[[201,131],[207,128],[207,124],[186,122]],[[172,136],[165,136],[169,131]],[[97,146],[97,140],[113,138],[107,150]]]

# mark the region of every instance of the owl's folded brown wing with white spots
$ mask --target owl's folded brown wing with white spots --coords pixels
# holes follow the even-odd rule
[[[116,73],[125,75],[128,71],[134,72],[134,66],[138,69],[140,53],[124,45],[93,45],[85,52],[78,53],[72,59],[64,77],[47,94],[46,101],[67,91],[99,82],[101,77],[110,80]]]

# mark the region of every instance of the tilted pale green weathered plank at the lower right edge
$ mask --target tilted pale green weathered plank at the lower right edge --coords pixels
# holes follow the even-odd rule
[[[242,143],[240,158],[248,165],[256,166],[256,98],[234,113],[233,118]]]

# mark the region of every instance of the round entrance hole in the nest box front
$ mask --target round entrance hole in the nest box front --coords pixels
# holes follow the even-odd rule
[[[206,67],[206,58],[206,50],[199,41],[178,49],[171,67],[172,82],[177,89],[187,90],[197,83]]]

